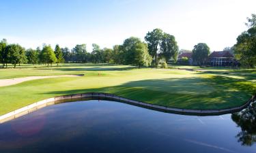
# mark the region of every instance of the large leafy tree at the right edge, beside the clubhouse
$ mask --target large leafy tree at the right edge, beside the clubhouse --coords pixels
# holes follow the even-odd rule
[[[248,18],[247,25],[251,28],[243,32],[237,38],[237,43],[234,46],[235,57],[245,67],[256,66],[256,16]]]

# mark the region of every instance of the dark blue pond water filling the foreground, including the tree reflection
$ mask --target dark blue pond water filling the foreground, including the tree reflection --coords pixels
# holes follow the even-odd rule
[[[0,152],[256,152],[255,107],[182,116],[114,101],[44,107],[0,124]]]

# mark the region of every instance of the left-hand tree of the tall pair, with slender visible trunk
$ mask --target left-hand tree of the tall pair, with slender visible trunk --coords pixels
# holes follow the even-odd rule
[[[154,29],[152,32],[148,32],[145,36],[145,41],[147,41],[150,55],[154,57],[155,65],[157,66],[157,53],[158,46],[162,41],[162,30]]]

